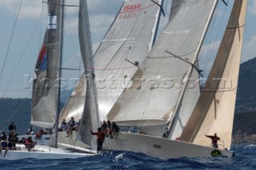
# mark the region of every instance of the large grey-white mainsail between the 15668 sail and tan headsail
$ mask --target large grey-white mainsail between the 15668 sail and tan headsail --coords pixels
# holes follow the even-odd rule
[[[166,125],[192,73],[217,1],[174,1],[170,22],[108,114],[119,125]],[[171,55],[170,53],[173,53]],[[158,134],[162,136],[162,132]]]

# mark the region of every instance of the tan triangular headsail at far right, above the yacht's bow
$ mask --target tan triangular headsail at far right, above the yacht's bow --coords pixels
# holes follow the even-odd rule
[[[236,0],[217,57],[180,140],[210,146],[205,135],[217,135],[230,148],[246,0]],[[221,144],[221,143],[219,143]]]

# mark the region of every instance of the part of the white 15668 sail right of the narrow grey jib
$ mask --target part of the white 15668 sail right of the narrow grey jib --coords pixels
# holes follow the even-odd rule
[[[126,0],[94,55],[101,121],[154,42],[162,0]]]

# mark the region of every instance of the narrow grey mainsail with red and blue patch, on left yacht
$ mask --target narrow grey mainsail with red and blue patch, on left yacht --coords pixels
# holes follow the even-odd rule
[[[59,40],[61,4],[49,0],[49,25],[38,55],[32,92],[31,125],[51,128],[58,107]]]

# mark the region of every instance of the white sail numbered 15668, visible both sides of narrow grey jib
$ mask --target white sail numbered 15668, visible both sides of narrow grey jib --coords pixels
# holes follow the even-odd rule
[[[158,1],[159,4],[161,2],[160,0]],[[133,6],[133,10],[130,10],[130,8],[127,10],[127,6]],[[109,75],[114,75],[115,78],[123,78],[123,76],[118,77],[120,73],[126,73],[127,77],[133,75],[138,68],[130,64],[126,59],[140,62],[146,57],[153,42],[159,12],[158,5],[148,0],[124,2],[110,30],[94,55],[94,72],[97,80],[105,80]],[[82,20],[81,17],[80,20]],[[129,33],[128,37],[127,33]],[[124,38],[127,38],[127,40],[124,40]],[[135,43],[139,47],[136,47]],[[126,48],[132,48],[132,46],[138,49],[134,50],[133,53],[126,53]],[[136,57],[136,60],[130,59],[130,57]],[[82,56],[82,60],[84,65],[86,65],[84,56]],[[127,65],[127,63],[128,66],[125,67],[124,65]],[[98,85],[98,103],[102,115],[101,120],[107,113],[107,110],[104,109],[105,106],[111,107],[118,97],[118,93],[122,92],[122,89],[119,87],[118,89],[109,89],[109,87],[100,89]],[[112,92],[114,96],[112,96]],[[59,121],[62,121],[62,119],[70,120],[70,117],[74,117],[75,121],[81,119],[85,103],[86,75],[83,74],[69,101],[67,101],[62,110]]]

